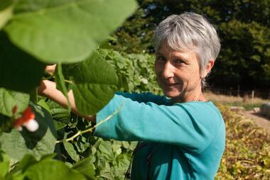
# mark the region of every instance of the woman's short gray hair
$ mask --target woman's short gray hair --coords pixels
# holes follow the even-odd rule
[[[220,52],[217,31],[204,16],[197,13],[168,16],[159,23],[154,34],[156,51],[164,44],[168,44],[172,50],[194,50],[199,58],[200,73],[210,59],[215,61]],[[205,85],[203,78],[202,87]]]

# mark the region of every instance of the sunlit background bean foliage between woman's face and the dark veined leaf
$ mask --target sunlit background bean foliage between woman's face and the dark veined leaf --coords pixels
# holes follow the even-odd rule
[[[156,82],[153,55],[126,54],[113,49],[100,49],[99,54],[117,70],[119,90],[151,91],[161,94]]]

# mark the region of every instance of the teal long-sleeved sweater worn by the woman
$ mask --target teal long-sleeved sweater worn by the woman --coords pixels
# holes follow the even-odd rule
[[[170,104],[164,96],[117,93],[94,135],[139,141],[131,179],[214,179],[225,150],[225,123],[212,102]]]

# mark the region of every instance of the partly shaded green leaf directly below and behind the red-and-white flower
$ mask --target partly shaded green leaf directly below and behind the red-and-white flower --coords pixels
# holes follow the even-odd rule
[[[36,132],[23,129],[20,133],[13,129],[11,133],[3,133],[0,137],[1,149],[16,161],[21,160],[24,154],[33,154],[39,159],[43,154],[53,153],[55,149],[56,131],[50,113],[41,106],[32,107],[39,125]]]

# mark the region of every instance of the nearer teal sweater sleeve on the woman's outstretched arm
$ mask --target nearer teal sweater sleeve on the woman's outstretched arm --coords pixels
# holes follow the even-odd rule
[[[205,149],[223,123],[211,102],[177,103],[173,106],[140,103],[115,94],[99,113],[94,135],[126,141],[151,141],[178,145],[194,152]]]

